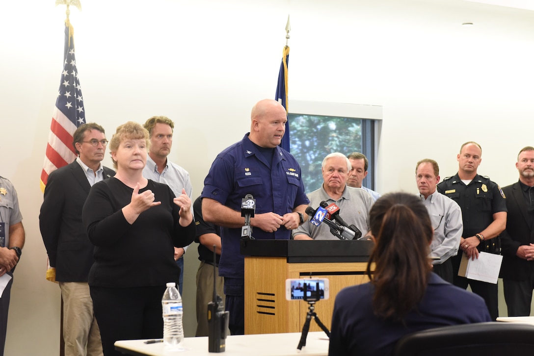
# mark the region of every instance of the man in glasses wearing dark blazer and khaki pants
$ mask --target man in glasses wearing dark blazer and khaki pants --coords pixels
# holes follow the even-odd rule
[[[100,330],[93,314],[87,279],[94,262],[93,245],[82,225],[82,208],[91,186],[111,178],[104,167],[104,128],[96,123],[80,125],[73,135],[76,160],[48,176],[39,225],[50,266],[63,299],[65,355],[102,355]]]

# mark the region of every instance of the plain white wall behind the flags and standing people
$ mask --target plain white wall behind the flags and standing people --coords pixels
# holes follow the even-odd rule
[[[175,121],[170,159],[193,195],[216,154],[272,98],[291,15],[289,99],[383,106],[378,191],[416,192],[414,165],[457,171],[461,143],[483,147],[480,173],[517,179],[532,142],[534,13],[461,0],[127,0],[72,9],[89,121]],[[62,68],[64,7],[0,4],[0,174],[17,187],[26,246],[15,273],[6,354],[57,355],[59,288],[44,279],[39,178]],[[475,22],[474,27],[460,26]],[[289,101],[289,108],[291,107]],[[111,167],[107,157],[105,164]],[[186,334],[193,335],[193,247],[186,255]],[[187,306],[189,304],[189,306]],[[506,310],[501,307],[501,315]]]

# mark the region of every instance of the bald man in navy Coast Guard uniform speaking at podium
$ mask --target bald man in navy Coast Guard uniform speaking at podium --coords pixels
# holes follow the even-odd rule
[[[301,169],[278,145],[285,132],[286,110],[276,100],[258,101],[252,108],[250,132],[219,153],[202,191],[202,213],[222,226],[219,275],[224,277],[226,310],[232,335],[245,333],[244,257],[239,252],[241,200],[252,194],[255,216],[250,219],[255,239],[289,239],[302,223],[309,203]]]

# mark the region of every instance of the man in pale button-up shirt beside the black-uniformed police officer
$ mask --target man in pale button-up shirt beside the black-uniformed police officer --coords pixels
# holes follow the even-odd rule
[[[437,192],[439,166],[436,161],[424,159],[417,162],[415,181],[434,228],[434,238],[430,244],[433,272],[452,284],[451,257],[458,254],[460,238],[464,232],[462,211],[458,203]]]

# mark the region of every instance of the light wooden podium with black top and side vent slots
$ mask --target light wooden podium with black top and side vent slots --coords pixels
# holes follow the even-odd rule
[[[327,278],[327,300],[315,312],[331,329],[337,292],[368,281],[372,241],[241,240],[245,255],[245,334],[297,333],[308,313],[303,300],[286,300],[286,279]],[[321,331],[312,321],[310,331]],[[276,343],[276,340],[273,340]]]

